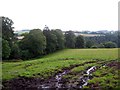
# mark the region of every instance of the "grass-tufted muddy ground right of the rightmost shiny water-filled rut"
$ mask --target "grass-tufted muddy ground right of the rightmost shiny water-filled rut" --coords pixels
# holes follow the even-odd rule
[[[117,90],[120,88],[119,70],[120,62],[109,61],[105,63],[94,73],[93,78],[89,81],[88,87],[100,90]]]

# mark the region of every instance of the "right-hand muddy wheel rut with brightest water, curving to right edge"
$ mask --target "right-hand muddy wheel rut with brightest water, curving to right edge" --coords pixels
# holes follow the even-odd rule
[[[78,89],[78,88],[83,88],[84,86],[89,85],[88,80],[91,80],[92,78],[94,78],[94,76],[92,75],[93,72],[95,72],[96,70],[99,70],[103,67],[114,67],[114,68],[120,68],[120,66],[118,64],[120,64],[119,62],[116,62],[115,60],[111,60],[111,61],[103,61],[103,62],[97,62],[100,63],[101,65],[97,66],[92,66],[92,67],[88,67],[86,69],[86,71],[84,71],[84,74],[82,76],[80,76],[78,74],[78,76],[80,76],[80,78],[78,78],[77,80],[72,81],[71,83],[71,87],[72,89]]]

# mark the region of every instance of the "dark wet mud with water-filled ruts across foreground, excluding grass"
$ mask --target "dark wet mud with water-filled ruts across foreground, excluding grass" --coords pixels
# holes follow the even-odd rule
[[[87,63],[94,63],[94,62],[86,62]],[[82,66],[83,64],[71,65],[69,68],[64,68],[61,72],[57,72],[54,76],[49,77],[49,79],[41,79],[41,78],[27,78],[27,77],[19,77],[16,79],[12,79],[10,81],[3,82],[3,90],[59,90],[59,89],[81,89],[84,86],[88,85],[88,80],[92,79],[92,73],[95,72],[97,69],[105,66],[115,67],[120,69],[118,62],[110,62],[104,63],[100,67],[91,66],[88,67],[79,78],[73,80],[64,79],[63,76],[70,74],[71,69]],[[79,74],[78,74],[79,75]]]

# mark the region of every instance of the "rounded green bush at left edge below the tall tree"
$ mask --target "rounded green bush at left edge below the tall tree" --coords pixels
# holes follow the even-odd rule
[[[2,39],[2,58],[9,58],[11,49],[7,40]]]

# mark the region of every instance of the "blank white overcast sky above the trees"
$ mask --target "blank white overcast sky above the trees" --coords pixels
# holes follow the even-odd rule
[[[119,0],[0,0],[0,16],[15,30],[118,30]]]

